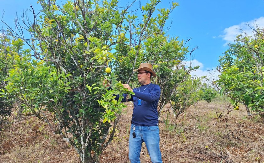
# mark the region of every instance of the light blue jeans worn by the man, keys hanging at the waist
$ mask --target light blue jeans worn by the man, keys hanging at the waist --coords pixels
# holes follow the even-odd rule
[[[153,163],[162,163],[161,152],[159,148],[159,127],[158,126],[135,126],[135,135],[133,138],[133,127],[131,124],[129,135],[129,160],[131,163],[140,163],[140,151],[142,143],[145,142],[148,153]]]

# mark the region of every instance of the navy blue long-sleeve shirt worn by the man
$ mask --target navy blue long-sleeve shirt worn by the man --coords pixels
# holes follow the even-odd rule
[[[145,89],[146,88],[146,89]],[[145,89],[145,91],[144,91]],[[143,92],[144,91],[144,92]],[[160,97],[160,87],[156,84],[142,85],[134,88],[135,95],[131,95],[128,101],[134,102],[134,109],[131,122],[139,126],[157,126],[158,121],[158,102]],[[123,102],[126,101],[127,94],[123,94]],[[116,97],[117,99],[119,96]],[[141,99],[141,105],[138,100]]]

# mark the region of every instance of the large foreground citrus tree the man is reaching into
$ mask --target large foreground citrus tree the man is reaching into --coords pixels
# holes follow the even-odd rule
[[[74,147],[81,162],[97,162],[113,139],[117,114],[125,107],[121,98],[114,100],[114,94],[128,92],[113,73],[105,72],[114,56],[102,33],[112,36],[113,24],[120,23],[116,22],[119,15],[114,20],[114,14],[119,14],[117,1],[39,3],[41,12],[32,10],[34,23],[16,26],[18,31],[27,29],[31,38],[13,31],[8,53],[15,65],[2,97],[22,103],[24,115],[47,123],[52,119],[51,126]],[[111,90],[102,85],[106,77],[112,80]]]

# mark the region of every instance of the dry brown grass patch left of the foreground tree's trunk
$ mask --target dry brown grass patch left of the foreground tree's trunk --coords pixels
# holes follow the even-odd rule
[[[16,120],[17,121],[17,120]],[[74,163],[76,152],[36,117],[23,117],[0,134],[0,162]]]

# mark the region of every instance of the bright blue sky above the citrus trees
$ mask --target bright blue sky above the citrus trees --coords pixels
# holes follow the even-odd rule
[[[125,6],[131,0],[119,0],[119,6]],[[36,0],[1,0],[0,11],[4,12],[3,20],[14,26],[15,13],[20,15],[23,10],[30,8],[32,4],[35,10],[40,9]],[[57,2],[61,2],[58,1]],[[141,6],[147,0],[141,0]],[[171,0],[163,0],[158,8],[168,8]],[[207,70],[214,69],[218,65],[218,59],[228,49],[227,43],[232,43],[235,36],[240,34],[238,28],[251,32],[249,27],[257,23],[264,27],[264,1],[263,0],[178,0],[174,11],[170,15],[167,26],[172,21],[169,30],[170,36],[179,36],[179,39],[192,38],[187,45],[190,49],[198,46],[194,51],[193,65],[201,68],[193,74],[197,76],[207,75]],[[133,9],[139,8],[139,1],[133,5]],[[136,11],[140,14],[140,11]],[[29,13],[30,14],[30,13]],[[1,28],[2,28],[2,22]]]

